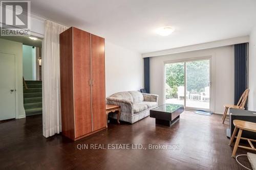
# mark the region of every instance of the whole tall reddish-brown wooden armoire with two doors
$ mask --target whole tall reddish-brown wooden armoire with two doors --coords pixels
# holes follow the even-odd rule
[[[62,134],[78,140],[105,129],[105,40],[71,27],[60,41]]]

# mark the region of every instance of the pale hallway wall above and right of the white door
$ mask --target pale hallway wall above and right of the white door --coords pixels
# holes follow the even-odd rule
[[[23,118],[26,115],[23,107],[22,43],[0,38],[0,52],[15,55],[16,118]]]

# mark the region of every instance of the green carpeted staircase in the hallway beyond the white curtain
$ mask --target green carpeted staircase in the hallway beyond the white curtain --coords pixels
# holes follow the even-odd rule
[[[26,116],[42,114],[42,81],[25,81],[28,89],[23,87],[23,100]]]

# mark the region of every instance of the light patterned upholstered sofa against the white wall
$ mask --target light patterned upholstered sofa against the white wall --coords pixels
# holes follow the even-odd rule
[[[158,95],[139,91],[118,92],[106,98],[106,104],[120,106],[119,119],[131,124],[150,115],[150,109],[156,108],[157,102]],[[110,116],[117,118],[116,114],[110,114]]]

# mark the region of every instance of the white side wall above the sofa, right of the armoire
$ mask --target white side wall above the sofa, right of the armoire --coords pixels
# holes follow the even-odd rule
[[[106,96],[144,87],[144,64],[139,53],[105,41]]]

